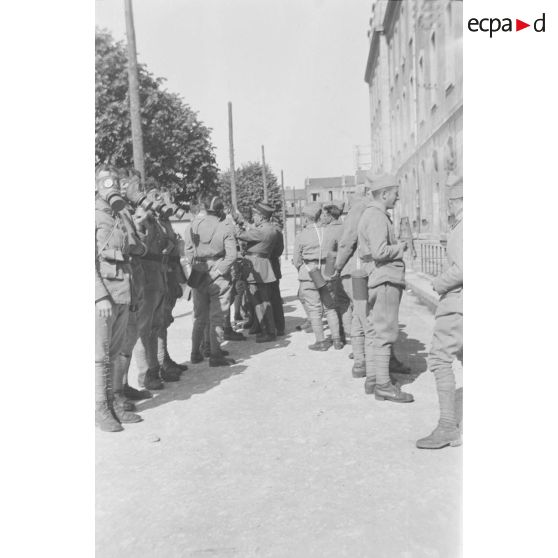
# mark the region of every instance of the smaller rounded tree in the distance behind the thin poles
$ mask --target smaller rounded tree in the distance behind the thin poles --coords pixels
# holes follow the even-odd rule
[[[268,203],[275,209],[274,219],[282,225],[283,196],[277,177],[266,164],[266,182]],[[246,219],[251,219],[252,208],[257,201],[263,200],[263,178],[261,163],[245,163],[236,170],[236,195],[238,210]],[[224,172],[220,176],[219,195],[227,204],[231,204],[231,174]]]

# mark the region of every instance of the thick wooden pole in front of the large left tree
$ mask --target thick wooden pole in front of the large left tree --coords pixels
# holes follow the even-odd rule
[[[143,135],[141,132],[141,114],[139,100],[138,60],[136,51],[136,32],[132,0],[124,0],[126,12],[126,37],[128,39],[128,87],[130,94],[130,119],[132,121],[132,149],[134,167],[141,173],[141,182],[145,184],[145,164],[143,158]]]

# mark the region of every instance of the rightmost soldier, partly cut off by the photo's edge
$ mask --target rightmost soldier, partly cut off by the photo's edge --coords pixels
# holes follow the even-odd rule
[[[451,174],[446,186],[449,213],[455,222],[447,244],[449,266],[432,284],[440,302],[428,357],[428,368],[436,379],[440,419],[430,436],[417,441],[420,449],[461,445],[452,362],[455,357],[463,361],[463,178]]]

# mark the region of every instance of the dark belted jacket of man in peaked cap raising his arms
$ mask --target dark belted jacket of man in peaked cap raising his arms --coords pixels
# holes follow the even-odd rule
[[[279,233],[273,223],[263,221],[257,227],[238,235],[238,240],[246,243],[245,259],[249,264],[246,280],[248,283],[273,283],[277,280],[270,257]]]

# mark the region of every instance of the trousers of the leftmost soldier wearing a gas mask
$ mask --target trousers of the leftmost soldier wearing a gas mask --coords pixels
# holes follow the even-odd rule
[[[112,398],[112,374],[128,325],[129,305],[112,304],[102,318],[95,310],[95,402]]]

